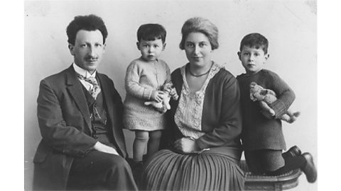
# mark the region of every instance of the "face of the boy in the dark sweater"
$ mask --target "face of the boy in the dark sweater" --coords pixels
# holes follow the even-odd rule
[[[263,65],[269,58],[269,54],[264,54],[264,50],[261,47],[256,49],[249,46],[243,46],[242,51],[238,52],[238,56],[247,74],[256,74],[263,69]]]

